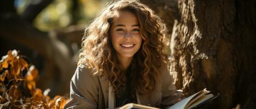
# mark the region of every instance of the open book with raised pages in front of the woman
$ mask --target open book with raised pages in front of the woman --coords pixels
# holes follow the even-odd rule
[[[209,100],[213,100],[217,98],[218,95],[214,96],[213,94],[210,94],[210,92],[206,89],[201,90],[200,92],[191,95],[184,100],[181,100],[174,104],[173,106],[169,107],[168,109],[190,109],[190,108],[196,108],[198,106],[201,106],[205,102]],[[138,109],[157,109],[156,107],[150,107],[150,106],[144,106],[139,104],[126,104],[119,109],[131,109],[131,108],[138,108]]]

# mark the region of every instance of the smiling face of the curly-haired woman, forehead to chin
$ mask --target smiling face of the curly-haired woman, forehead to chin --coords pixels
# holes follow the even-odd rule
[[[141,35],[139,21],[130,11],[117,11],[113,17],[110,36],[118,58],[130,58],[140,49]]]

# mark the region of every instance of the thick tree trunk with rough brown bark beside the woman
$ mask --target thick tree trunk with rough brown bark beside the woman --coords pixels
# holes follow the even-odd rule
[[[255,108],[255,1],[178,2],[170,40],[177,87],[220,96],[206,108]]]

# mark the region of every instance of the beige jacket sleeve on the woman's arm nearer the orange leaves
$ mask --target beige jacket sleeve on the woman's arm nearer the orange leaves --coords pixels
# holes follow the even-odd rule
[[[70,101],[64,108],[97,108],[98,83],[89,69],[77,67],[70,83]]]

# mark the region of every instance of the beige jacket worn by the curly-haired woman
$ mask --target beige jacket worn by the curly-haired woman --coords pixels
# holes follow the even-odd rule
[[[173,78],[167,69],[161,69],[162,75],[156,89],[147,95],[136,93],[138,104],[166,107],[178,102],[181,93],[177,93]],[[106,76],[92,76],[84,65],[77,67],[70,84],[70,101],[64,108],[113,108],[115,94]]]

